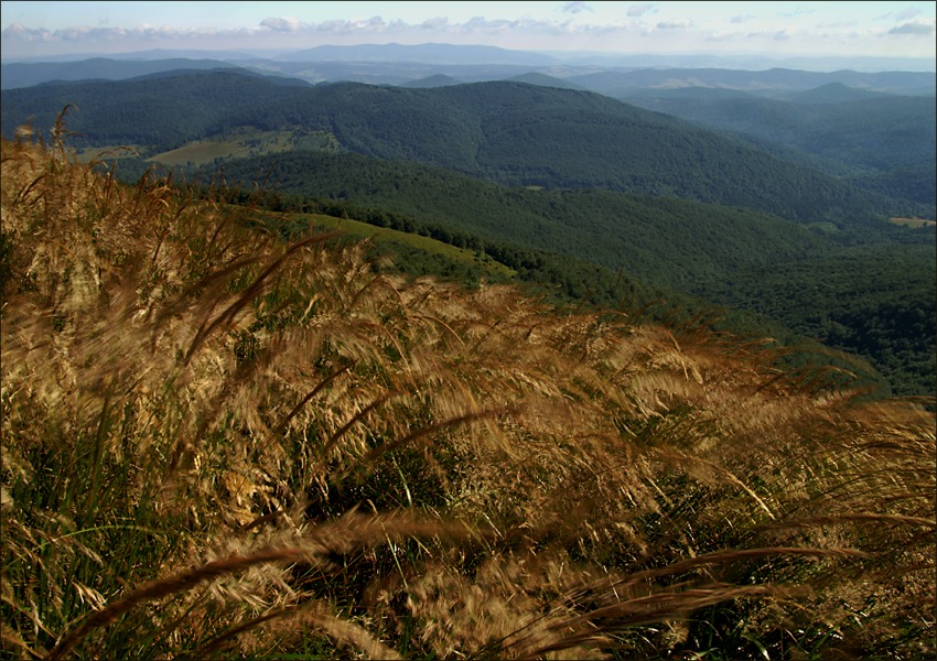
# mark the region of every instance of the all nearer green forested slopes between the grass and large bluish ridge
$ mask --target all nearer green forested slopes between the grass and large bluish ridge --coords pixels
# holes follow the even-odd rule
[[[211,175],[207,169],[200,178]],[[245,191],[267,182],[283,209],[343,215],[348,207],[362,220],[484,250],[518,270],[541,270],[527,254],[545,251],[756,311],[870,360],[895,392],[934,393],[933,227],[879,220],[817,232],[747,209],[601,189],[509,188],[357,154],[239,159],[224,164],[224,177]],[[600,286],[578,286],[571,273],[559,280],[580,292]]]

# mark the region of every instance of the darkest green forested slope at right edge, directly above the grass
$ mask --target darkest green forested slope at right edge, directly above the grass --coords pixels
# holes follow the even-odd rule
[[[930,231],[933,238],[933,230]],[[862,246],[704,282],[693,293],[758,312],[870,360],[897,394],[937,392],[930,245]]]

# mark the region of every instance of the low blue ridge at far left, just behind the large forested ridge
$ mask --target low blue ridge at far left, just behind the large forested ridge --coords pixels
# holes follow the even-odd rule
[[[0,86],[3,89],[31,87],[50,80],[120,80],[147,74],[176,69],[234,68],[219,59],[155,59],[129,61],[95,57],[80,62],[12,63],[0,65]]]

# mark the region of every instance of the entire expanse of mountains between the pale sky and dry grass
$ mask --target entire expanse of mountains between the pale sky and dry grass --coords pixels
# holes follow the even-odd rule
[[[32,123],[47,138],[69,107],[68,144],[83,158],[131,147],[118,165],[130,178],[161,166],[269,185],[278,208],[420,231],[572,283],[571,295],[589,291],[572,271],[623,271],[852,351],[897,392],[933,392],[933,75],[558,76],[562,63],[546,73],[497,53],[432,66],[381,53],[321,48],[249,68],[97,62],[84,69],[97,79],[64,63],[56,75],[74,80],[4,89],[0,129]],[[394,56],[410,55],[445,53]],[[319,66],[419,76],[312,84]],[[466,66],[508,79],[466,83],[446,68]],[[886,221],[902,217],[923,227]],[[548,268],[549,254],[561,261]]]

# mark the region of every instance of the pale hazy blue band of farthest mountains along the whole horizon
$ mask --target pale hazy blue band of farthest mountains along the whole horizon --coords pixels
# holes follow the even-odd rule
[[[713,66],[708,57],[639,57],[590,54],[543,54],[491,46],[421,44],[370,44],[360,46],[319,46],[306,51],[278,54],[246,52],[152,51],[94,58],[53,58],[54,62],[2,64],[2,87],[24,87],[55,78],[128,78],[166,68],[159,61],[214,59],[269,74],[297,76],[310,83],[351,80],[375,85],[403,85],[433,75],[448,75],[463,83],[499,80],[526,74],[543,74],[592,91],[618,96],[644,87],[713,87],[773,93],[807,90],[829,83],[859,89],[893,94],[935,91],[934,73],[927,71],[852,71],[848,61],[832,62],[836,69],[805,71],[771,66],[769,61],[725,58],[725,66]],[[98,76],[101,59],[108,59],[112,74]],[[717,61],[719,61],[717,58]],[[690,64],[692,63],[692,64]],[[13,67],[9,68],[8,67]],[[895,63],[897,64],[897,63]],[[761,66],[760,66],[761,65]],[[762,68],[763,66],[763,68]],[[931,63],[933,66],[933,63]],[[195,68],[179,66],[176,68]],[[82,72],[85,72],[84,74]],[[62,72],[62,73],[55,73]],[[128,72],[127,74],[119,72]],[[136,72],[136,73],[132,73]]]

